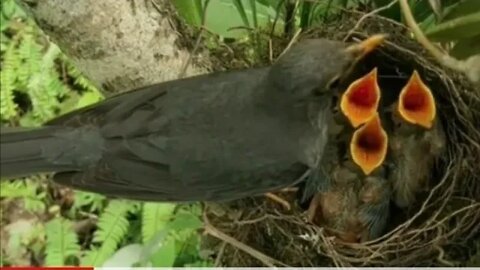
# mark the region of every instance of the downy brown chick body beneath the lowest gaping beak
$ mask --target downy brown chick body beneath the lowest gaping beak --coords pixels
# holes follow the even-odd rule
[[[385,232],[391,186],[384,177],[367,176],[346,161],[331,172],[328,191],[314,196],[307,218],[348,243],[375,239]]]

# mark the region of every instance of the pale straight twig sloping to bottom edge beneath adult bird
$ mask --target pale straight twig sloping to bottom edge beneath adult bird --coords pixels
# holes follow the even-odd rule
[[[275,265],[281,265],[281,266],[288,266],[278,260],[275,260],[274,258],[268,256],[268,255],[265,255],[264,253],[248,246],[248,245],[245,245],[244,243],[238,241],[237,239],[223,233],[222,231],[220,231],[219,229],[215,228],[211,223],[210,223],[210,220],[208,219],[207,217],[207,211],[205,211],[203,213],[203,222],[205,224],[205,233],[219,239],[219,240],[222,240],[230,245],[232,245],[233,247],[249,254],[250,256],[252,256],[253,258],[259,260],[260,262],[262,262],[264,265],[268,266],[268,267],[275,267]]]

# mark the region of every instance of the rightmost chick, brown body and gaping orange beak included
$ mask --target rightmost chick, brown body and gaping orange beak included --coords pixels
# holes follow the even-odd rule
[[[393,169],[389,179],[393,200],[408,207],[430,178],[432,166],[445,148],[445,134],[436,119],[433,94],[414,71],[394,104],[390,138]]]

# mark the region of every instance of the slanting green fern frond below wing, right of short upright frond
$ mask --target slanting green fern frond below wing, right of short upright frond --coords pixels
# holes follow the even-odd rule
[[[130,225],[126,218],[129,208],[128,202],[120,200],[111,201],[105,208],[93,236],[93,242],[100,244],[100,247],[87,252],[82,265],[102,265],[115,253]]]

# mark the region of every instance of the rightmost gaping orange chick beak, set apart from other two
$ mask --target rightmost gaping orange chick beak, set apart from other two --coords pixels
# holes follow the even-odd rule
[[[430,129],[436,116],[432,91],[422,81],[417,71],[400,92],[397,111],[403,120]]]

